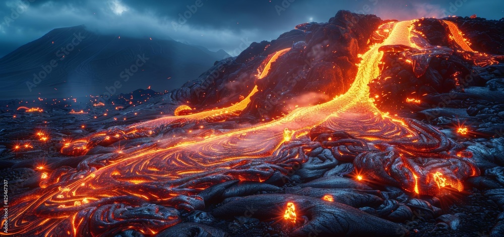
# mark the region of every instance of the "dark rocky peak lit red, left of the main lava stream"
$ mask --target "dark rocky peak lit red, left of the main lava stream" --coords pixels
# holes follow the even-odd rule
[[[219,63],[193,82],[191,104],[223,107],[219,102],[238,102],[255,84],[259,92],[249,106],[254,109],[245,111],[251,116],[277,117],[296,105],[326,102],[350,87],[358,53],[367,49],[370,35],[381,23],[374,15],[339,11],[329,23],[301,24],[271,42],[252,43],[234,61]],[[292,49],[271,65],[268,76],[257,80],[265,58],[285,48]]]

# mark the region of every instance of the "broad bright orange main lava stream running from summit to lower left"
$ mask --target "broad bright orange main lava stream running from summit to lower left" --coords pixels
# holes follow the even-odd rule
[[[400,138],[411,142],[423,141],[424,136],[409,128],[404,120],[379,111],[369,99],[367,86],[381,73],[378,67],[384,54],[379,51],[381,46],[403,44],[421,49],[411,42],[412,37],[418,37],[411,33],[412,23],[395,23],[389,37],[383,43],[371,46],[362,56],[357,76],[348,92],[327,103],[298,108],[280,120],[257,127],[194,139],[169,148],[147,147],[113,156],[96,155],[85,159],[78,169],[53,171],[42,183],[42,189],[14,201],[10,209],[13,213],[10,223],[14,226],[10,227],[9,234],[50,234],[60,231],[58,229],[69,229],[69,235],[71,232],[78,235],[83,231],[100,234],[105,230],[92,229],[88,221],[98,221],[95,225],[99,225],[100,221],[118,221],[119,217],[98,212],[96,206],[119,205],[121,202],[126,206],[135,206],[142,200],[163,206],[187,202],[187,207],[191,206],[192,199],[185,196],[196,195],[211,185],[232,179],[264,181],[275,169],[285,171],[284,167],[302,160],[299,154],[284,154],[279,148],[288,146],[290,138],[306,134],[319,125],[346,131],[368,141]],[[249,100],[242,102],[236,108],[242,108]],[[163,118],[156,123],[160,121]],[[418,175],[418,183],[424,182],[420,180],[424,176]],[[411,190],[412,187],[406,189]],[[112,220],[108,219],[108,215],[112,216]],[[83,222],[86,224],[81,224]],[[166,222],[162,227],[175,223],[175,220]],[[149,234],[162,229],[134,227],[142,232],[150,231]]]

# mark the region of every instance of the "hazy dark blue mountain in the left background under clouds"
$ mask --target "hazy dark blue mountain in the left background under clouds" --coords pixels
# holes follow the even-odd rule
[[[228,56],[174,40],[59,28],[0,58],[0,99],[172,90]]]

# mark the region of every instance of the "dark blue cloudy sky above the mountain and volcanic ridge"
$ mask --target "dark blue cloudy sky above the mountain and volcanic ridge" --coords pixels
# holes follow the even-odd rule
[[[327,22],[338,10],[397,20],[473,14],[496,20],[504,17],[501,0],[342,2],[4,0],[0,3],[0,57],[54,28],[77,25],[103,34],[171,38],[236,55],[243,42],[248,46],[253,41],[272,40],[304,22]]]

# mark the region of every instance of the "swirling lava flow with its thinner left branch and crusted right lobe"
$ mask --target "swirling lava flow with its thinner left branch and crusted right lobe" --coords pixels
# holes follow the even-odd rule
[[[135,229],[152,235],[181,221],[177,209],[204,208],[198,196],[201,190],[227,180],[265,181],[274,172],[285,173],[294,163],[305,161],[305,153],[320,144],[383,184],[428,195],[448,187],[461,191],[462,181],[479,172],[470,154],[428,125],[380,111],[369,98],[367,84],[381,73],[380,48],[404,45],[415,55],[435,50],[413,24],[381,26],[377,33],[385,35],[384,41],[362,55],[348,92],[329,102],[297,108],[269,123],[211,136],[165,139],[121,153],[92,155],[77,168],[54,170],[40,189],[16,198],[9,234],[99,236]],[[288,50],[271,56],[259,77]],[[114,128],[93,135],[95,140],[66,144],[62,152],[83,154],[107,139],[149,136],[177,120],[238,116],[256,91],[229,108]]]

